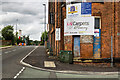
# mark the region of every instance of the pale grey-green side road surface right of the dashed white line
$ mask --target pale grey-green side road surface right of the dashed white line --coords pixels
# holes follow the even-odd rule
[[[33,80],[33,79],[55,79],[55,80],[59,80],[59,79],[79,79],[79,80],[117,80],[118,75],[98,75],[98,74],[67,74],[67,73],[59,73],[59,72],[52,72],[52,71],[41,71],[41,70],[37,70],[37,69],[33,69],[33,68],[29,68],[26,67],[25,70],[23,71],[23,73],[20,74],[20,76],[18,76],[18,80],[19,79],[26,79],[28,78],[29,80]],[[109,79],[108,79],[109,78]]]

